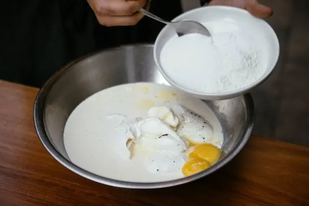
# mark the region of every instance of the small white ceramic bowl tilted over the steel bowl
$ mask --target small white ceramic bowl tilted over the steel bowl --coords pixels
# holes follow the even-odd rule
[[[265,68],[264,74],[258,78],[254,83],[243,87],[238,90],[225,93],[204,93],[195,92],[178,85],[171,77],[167,75],[163,67],[160,64],[160,52],[163,46],[169,41],[173,36],[176,35],[175,29],[172,26],[165,26],[159,35],[157,36],[154,44],[154,60],[155,63],[162,74],[162,76],[174,87],[180,89],[182,92],[192,95],[194,97],[203,100],[224,100],[231,99],[242,94],[247,93],[252,88],[256,87],[258,84],[263,82],[274,70],[278,58],[279,58],[279,41],[276,33],[267,22],[262,19],[258,19],[252,16],[249,12],[243,9],[230,7],[230,6],[206,6],[191,11],[185,12],[175,18],[173,22],[180,20],[194,20],[197,22],[208,22],[208,21],[232,21],[237,22],[242,28],[250,30],[258,36],[268,53],[268,63]]]

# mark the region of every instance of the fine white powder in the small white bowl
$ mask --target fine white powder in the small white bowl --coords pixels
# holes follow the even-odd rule
[[[267,54],[254,34],[227,23],[206,26],[212,38],[175,36],[163,47],[160,62],[169,78],[191,91],[224,93],[246,87],[263,75]]]

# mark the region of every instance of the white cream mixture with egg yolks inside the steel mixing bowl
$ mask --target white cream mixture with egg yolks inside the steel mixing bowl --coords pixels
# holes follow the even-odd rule
[[[94,94],[77,106],[64,129],[72,162],[103,177],[134,182],[179,179],[196,166],[206,169],[214,163],[207,158],[222,143],[221,125],[205,103],[154,83]]]

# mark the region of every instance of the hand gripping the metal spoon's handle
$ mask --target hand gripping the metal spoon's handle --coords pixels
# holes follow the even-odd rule
[[[136,25],[143,14],[138,12],[148,0],[87,0],[98,22],[103,26]]]

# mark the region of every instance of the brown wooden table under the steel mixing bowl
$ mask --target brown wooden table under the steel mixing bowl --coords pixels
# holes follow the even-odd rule
[[[54,160],[36,136],[37,92],[0,81],[0,206],[309,205],[309,148],[257,136],[220,171],[177,187],[122,189],[84,179]]]

